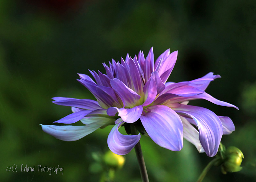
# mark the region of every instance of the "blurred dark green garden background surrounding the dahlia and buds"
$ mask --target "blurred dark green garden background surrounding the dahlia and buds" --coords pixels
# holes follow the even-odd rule
[[[191,101],[229,116],[236,131],[222,143],[244,153],[243,170],[223,175],[212,167],[204,181],[256,181],[256,3],[255,1],[0,0],[0,176],[1,181],[99,181],[93,153],[108,151],[111,127],[75,142],[63,142],[39,126],[71,113],[52,97],[94,99],[76,73],[103,71],[102,62],[140,50],[155,59],[179,50],[169,81],[189,81],[212,71],[219,78],[206,90],[234,108]],[[105,72],[104,72],[105,73]],[[196,181],[212,160],[184,141],[180,152],[141,137],[152,182]],[[140,181],[132,150],[115,181]],[[17,172],[6,171],[17,165]],[[21,164],[35,172],[21,172]],[[38,165],[63,167],[38,172]]]

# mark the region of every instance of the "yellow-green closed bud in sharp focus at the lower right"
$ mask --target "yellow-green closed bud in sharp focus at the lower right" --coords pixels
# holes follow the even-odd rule
[[[241,171],[240,167],[244,158],[244,154],[241,150],[236,147],[228,147],[225,152],[225,159],[221,166],[221,171],[223,174],[227,172],[237,172]]]

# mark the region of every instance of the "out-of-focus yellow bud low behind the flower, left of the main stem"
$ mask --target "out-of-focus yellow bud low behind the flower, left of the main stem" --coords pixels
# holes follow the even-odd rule
[[[103,161],[110,167],[122,168],[125,162],[123,156],[114,154],[110,150],[104,155]]]

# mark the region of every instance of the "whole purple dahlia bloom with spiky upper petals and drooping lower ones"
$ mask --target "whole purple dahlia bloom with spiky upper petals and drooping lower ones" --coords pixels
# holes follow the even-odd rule
[[[71,106],[72,114],[55,121],[72,124],[81,121],[84,126],[41,125],[44,132],[64,141],[75,141],[98,128],[114,125],[108,135],[109,149],[119,155],[129,153],[140,140],[139,135],[122,135],[118,128],[139,122],[142,134],[147,134],[156,144],[180,151],[183,137],[194,144],[199,152],[210,157],[216,155],[222,135],[235,130],[232,120],[217,116],[212,111],[187,105],[189,100],[205,99],[220,106],[236,106],[213,98],[206,87],[219,75],[212,72],[187,82],[166,82],[177,60],[178,51],[166,50],[156,62],[153,48],[148,56],[139,52],[132,59],[103,63],[106,74],[90,71],[91,77],[78,74],[83,84],[97,101],[76,98],[52,98],[53,103]],[[55,123],[54,122],[54,123]]]

